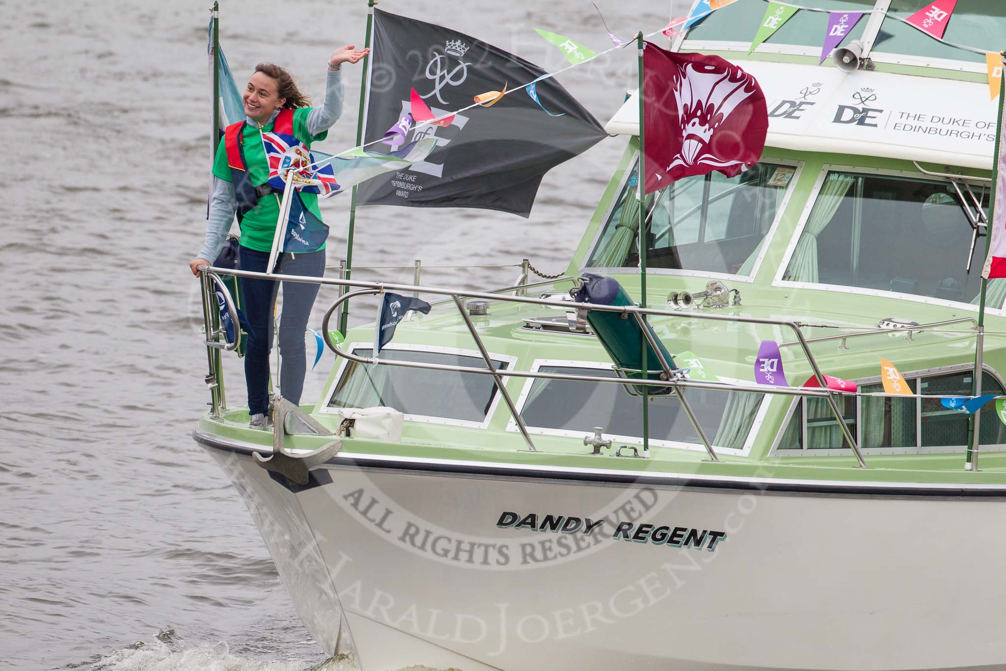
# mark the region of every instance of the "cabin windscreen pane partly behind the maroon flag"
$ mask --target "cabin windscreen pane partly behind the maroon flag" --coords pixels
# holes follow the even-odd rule
[[[736,177],[685,177],[647,196],[647,266],[750,275],[796,168],[759,163]],[[636,168],[591,255],[599,269],[639,265]]]

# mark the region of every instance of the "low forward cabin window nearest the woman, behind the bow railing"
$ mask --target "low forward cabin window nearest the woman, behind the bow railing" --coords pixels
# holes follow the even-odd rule
[[[372,351],[372,348],[354,349],[353,354],[370,356]],[[446,352],[382,349],[378,358],[485,367],[482,357]],[[505,370],[509,362],[494,360],[493,365]],[[386,405],[408,415],[482,423],[496,393],[491,375],[347,361],[328,404],[329,407]]]

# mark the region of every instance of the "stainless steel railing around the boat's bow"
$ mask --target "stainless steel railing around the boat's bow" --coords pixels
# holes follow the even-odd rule
[[[203,299],[203,320],[206,327],[206,348],[209,359],[209,374],[206,376],[206,383],[210,388],[211,393],[211,405],[212,405],[212,415],[214,417],[221,416],[221,410],[225,409],[225,398],[224,398],[224,387],[222,378],[222,368],[220,366],[220,349],[233,349],[236,347],[236,342],[232,343],[221,343],[219,338],[221,337],[222,329],[219,324],[219,317],[216,313],[216,301],[211,300],[213,293],[210,291],[212,286],[217,287],[222,291],[224,296],[224,301],[228,309],[232,309],[233,301],[230,299],[229,292],[227,292],[226,286],[220,279],[220,275],[229,275],[238,278],[255,278],[255,279],[268,279],[273,281],[283,281],[283,282],[301,282],[307,284],[317,284],[317,285],[330,285],[342,288],[340,291],[346,291],[349,289],[355,289],[356,291],[349,291],[348,293],[343,293],[338,299],[333,302],[329,309],[325,313],[324,322],[322,324],[323,338],[325,339],[326,345],[336,355],[345,357],[351,361],[357,361],[359,363],[370,363],[377,365],[390,365],[390,366],[400,366],[408,368],[425,368],[430,370],[452,370],[459,372],[472,372],[484,375],[491,375],[494,379],[497,389],[500,395],[503,397],[507,406],[512,412],[513,418],[520,430],[521,436],[523,437],[525,443],[529,450],[536,451],[534,447],[534,442],[531,440],[528,434],[527,427],[524,425],[523,418],[520,416],[520,412],[517,410],[516,405],[513,402],[512,397],[506,389],[504,383],[504,378],[506,377],[532,377],[532,378],[542,378],[542,379],[563,379],[571,381],[581,381],[581,382],[597,382],[597,383],[614,383],[623,385],[648,385],[653,387],[673,387],[675,394],[678,396],[682,403],[682,407],[685,409],[688,415],[689,422],[695,429],[700,440],[702,441],[703,447],[705,448],[707,454],[709,455],[709,460],[718,462],[719,459],[716,457],[715,450],[709,443],[708,438],[699,426],[698,420],[695,413],[692,411],[690,404],[688,403],[684,391],[688,388],[699,388],[699,389],[715,389],[720,391],[750,391],[757,393],[771,393],[779,395],[791,395],[791,396],[809,396],[809,397],[821,397],[828,401],[832,413],[838,422],[838,426],[842,431],[842,434],[852,449],[853,454],[856,457],[856,461],[860,468],[866,468],[866,462],[863,460],[863,456],[859,451],[859,446],[856,443],[855,437],[852,435],[848,426],[842,417],[841,410],[839,409],[837,397],[843,395],[850,395],[850,392],[838,391],[828,388],[828,383],[825,380],[824,373],[821,371],[817,360],[814,358],[814,354],[810,350],[807,338],[804,336],[801,330],[801,324],[792,320],[779,320],[779,319],[762,319],[757,317],[739,317],[732,315],[714,315],[705,314],[699,312],[687,312],[682,313],[676,310],[658,310],[654,308],[640,308],[636,306],[607,306],[607,305],[597,305],[593,303],[576,303],[570,301],[554,301],[548,299],[540,298],[529,298],[526,296],[518,295],[517,289],[521,287],[510,287],[502,290],[496,290],[495,292],[476,292],[464,289],[450,289],[444,287],[424,287],[418,285],[405,285],[405,284],[394,284],[394,283],[383,283],[383,282],[365,282],[359,280],[335,280],[330,278],[314,278],[314,277],[304,277],[304,276],[290,276],[290,275],[270,275],[267,276],[265,273],[253,273],[248,271],[236,271],[228,269],[220,269],[213,267],[200,267],[201,271],[201,281],[202,281],[202,299]],[[559,282],[570,281],[572,278],[560,278],[557,280],[548,281],[547,283],[538,284],[554,284]],[[523,288],[531,285],[524,285]],[[447,301],[453,301],[457,306],[458,311],[462,315],[466,326],[468,327],[469,333],[475,340],[479,351],[482,355],[483,361],[486,364],[485,368],[475,368],[471,366],[452,366],[446,364],[437,363],[423,363],[416,361],[399,361],[390,359],[378,359],[374,357],[360,357],[352,354],[351,352],[341,350],[333,343],[329,337],[329,322],[333,313],[336,311],[339,305],[344,301],[349,300],[354,296],[362,296],[369,294],[380,294],[384,291],[396,291],[411,294],[433,294],[439,296],[448,297]],[[506,295],[505,292],[513,292],[512,295]],[[492,359],[479,335],[478,329],[472,323],[469,318],[462,299],[483,299],[490,301],[499,301],[506,303],[519,303],[525,305],[541,305],[553,308],[561,308],[563,310],[601,310],[605,312],[616,312],[622,313],[627,316],[631,315],[633,319],[643,326],[644,316],[654,316],[654,317],[666,317],[671,319],[699,319],[707,321],[718,321],[718,322],[732,322],[739,324],[758,324],[758,325],[770,325],[779,326],[783,328],[788,328],[793,331],[796,339],[794,340],[794,345],[799,345],[800,349],[803,351],[804,355],[807,357],[807,361],[814,372],[814,376],[820,384],[819,388],[793,388],[793,387],[768,387],[764,385],[757,384],[723,384],[718,382],[707,382],[701,380],[692,380],[681,378],[674,374],[671,370],[669,362],[664,360],[664,357],[659,354],[660,349],[656,346],[652,334],[649,333],[649,329],[643,328],[643,333],[646,334],[650,345],[658,352],[658,358],[661,370],[660,371],[646,371],[646,372],[662,372],[661,379],[649,379],[647,377],[642,377],[640,379],[632,378],[627,379],[625,377],[602,377],[596,375],[574,375],[569,373],[544,373],[540,371],[522,371],[522,370],[500,370],[496,369],[492,363]],[[235,314],[235,313],[231,313]],[[920,328],[915,328],[914,330],[923,330]],[[222,337],[226,338],[225,334]],[[643,372],[643,371],[639,371]],[[664,379],[666,378],[666,379]]]

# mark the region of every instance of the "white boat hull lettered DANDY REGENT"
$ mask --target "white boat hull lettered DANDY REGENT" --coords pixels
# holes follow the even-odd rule
[[[301,487],[246,447],[196,438],[309,631],[329,654],[355,647],[366,671],[1006,663],[1006,500],[992,492],[606,483],[346,455]],[[538,530],[545,515],[580,524]]]

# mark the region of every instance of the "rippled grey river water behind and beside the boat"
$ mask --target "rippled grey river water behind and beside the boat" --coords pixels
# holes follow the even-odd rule
[[[0,117],[12,131],[0,163],[3,670],[293,671],[324,662],[244,505],[190,438],[207,400],[187,268],[205,229],[207,4],[0,1],[8,17]],[[274,60],[320,95],[331,49],[363,42],[364,0],[221,4],[221,44],[239,85],[256,62]],[[662,27],[682,4],[690,3],[599,0],[624,37]],[[534,27],[599,51],[610,43],[589,0],[381,8],[547,69],[565,61]],[[559,78],[604,123],[635,87],[635,67],[630,47]],[[360,68],[344,72],[345,114],[319,145],[332,153],[351,147],[356,132]],[[528,258],[556,273],[624,145],[608,139],[549,173],[527,220],[362,208],[355,263]],[[337,263],[348,197],[323,201],[322,210]],[[410,271],[382,274],[411,279]],[[431,270],[424,282],[488,289],[516,275]],[[333,296],[319,297],[313,327]],[[332,363],[326,353],[308,374],[305,399],[317,396]],[[243,403],[233,357],[226,374],[230,404]]]

